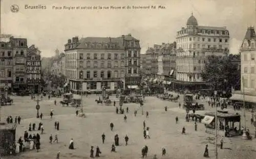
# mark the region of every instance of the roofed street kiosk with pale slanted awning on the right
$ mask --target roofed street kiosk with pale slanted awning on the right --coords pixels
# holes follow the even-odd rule
[[[218,120],[218,132],[219,134],[227,135],[229,131],[229,136],[240,135],[241,131],[241,116],[237,114],[228,113],[228,111],[217,111]],[[202,122],[209,128],[215,128],[215,112],[205,113],[205,117]],[[235,123],[239,123],[239,129],[235,126]],[[228,126],[228,129],[227,129]]]

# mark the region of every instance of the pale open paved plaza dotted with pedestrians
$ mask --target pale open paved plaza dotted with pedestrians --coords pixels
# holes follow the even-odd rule
[[[12,96],[14,104],[2,108],[2,116],[18,116],[22,117],[22,122],[17,126],[16,139],[23,137],[24,131],[28,130],[29,123],[36,122],[36,127],[39,119],[35,118],[36,102],[31,100],[31,97]],[[181,97],[182,98],[182,97]],[[54,105],[54,100],[57,100],[57,105]],[[99,146],[102,154],[100,158],[140,158],[141,149],[147,145],[147,158],[153,158],[157,154],[158,158],[162,158],[161,149],[165,147],[167,156],[164,158],[204,158],[203,153],[205,145],[208,144],[209,158],[215,158],[215,139],[214,134],[206,134],[203,124],[198,124],[198,131],[195,131],[194,122],[185,122],[185,110],[178,108],[178,103],[163,101],[156,97],[146,97],[142,110],[138,110],[138,114],[134,116],[134,110],[139,108],[139,104],[127,103],[123,104],[123,108],[129,107],[127,122],[123,121],[124,115],[116,114],[115,107],[101,105],[95,102],[98,96],[91,95],[83,97],[83,110],[86,113],[86,118],[76,117],[76,109],[73,107],[62,107],[59,101],[62,98],[43,99],[40,101],[39,113],[43,114],[42,123],[44,124],[45,133],[41,136],[41,149],[39,152],[35,150],[22,152],[18,157],[6,158],[55,158],[60,151],[60,158],[89,158],[90,147]],[[202,101],[204,102],[204,101]],[[206,104],[206,103],[205,103]],[[116,105],[119,104],[117,103]],[[168,107],[168,111],[164,111],[164,107]],[[53,109],[53,118],[50,118],[50,110]],[[206,109],[209,110],[206,106]],[[149,118],[145,117],[145,112],[149,112]],[[175,117],[179,117],[179,124],[176,124]],[[151,139],[143,138],[143,120],[146,121],[146,127],[150,127]],[[59,121],[60,130],[54,129],[54,122]],[[249,121],[249,117],[248,117]],[[111,131],[110,123],[114,123],[114,130]],[[249,122],[248,122],[249,124]],[[182,127],[186,128],[186,135],[181,134]],[[39,131],[30,131],[29,134],[36,134]],[[57,133],[59,143],[49,144],[49,136],[53,137]],[[102,144],[101,135],[105,134],[105,143]],[[118,134],[119,144],[116,153],[111,153],[111,145],[114,143],[114,136]],[[129,137],[129,143],[124,145],[124,137]],[[69,142],[73,138],[74,150],[68,148]],[[255,139],[252,141],[241,142],[240,137],[225,138],[224,149],[219,150],[219,158],[232,158],[235,152],[236,155],[243,155],[244,149],[249,155],[248,159],[255,158]],[[253,143],[254,142],[254,143]],[[241,144],[240,144],[241,143]],[[249,146],[249,148],[248,148]],[[231,150],[230,150],[231,149]],[[240,157],[241,158],[241,157]],[[242,157],[244,158],[244,157]]]

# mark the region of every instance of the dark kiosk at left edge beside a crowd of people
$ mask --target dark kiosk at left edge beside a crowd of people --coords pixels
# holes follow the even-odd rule
[[[17,124],[0,122],[0,153],[8,155],[15,153],[15,134]]]

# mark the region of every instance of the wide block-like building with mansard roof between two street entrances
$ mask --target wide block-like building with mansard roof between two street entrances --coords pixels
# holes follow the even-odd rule
[[[121,37],[74,37],[65,44],[65,70],[70,88],[100,91],[122,89],[140,82],[139,40]],[[127,86],[127,88],[129,88]]]

